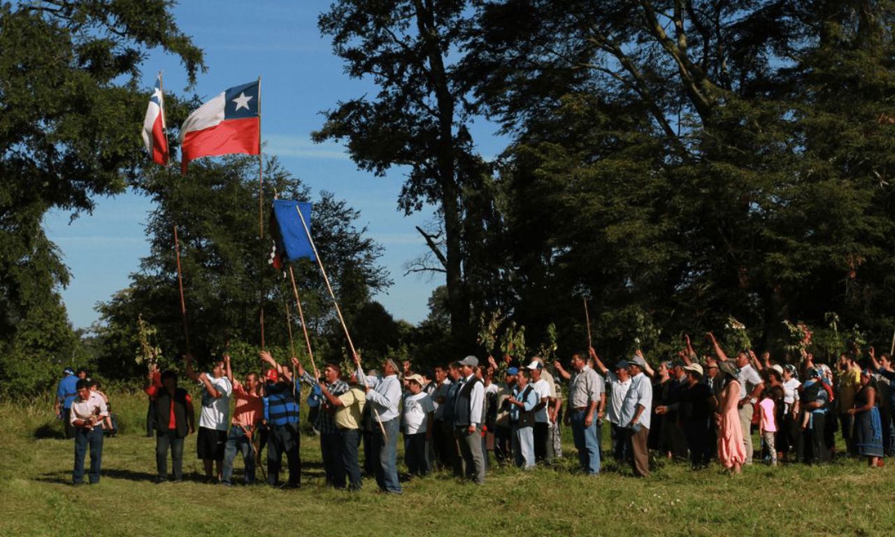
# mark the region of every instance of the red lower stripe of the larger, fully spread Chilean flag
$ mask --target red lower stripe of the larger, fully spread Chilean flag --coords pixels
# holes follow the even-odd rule
[[[218,157],[233,153],[258,155],[260,153],[260,118],[227,119],[221,123],[187,132],[183,137],[181,168],[186,172],[193,158]]]

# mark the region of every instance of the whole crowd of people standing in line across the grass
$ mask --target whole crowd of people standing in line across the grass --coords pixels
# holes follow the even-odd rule
[[[269,485],[300,486],[303,385],[310,388],[309,420],[320,439],[326,482],[347,490],[361,490],[367,474],[379,490],[401,494],[399,439],[410,475],[440,468],[481,484],[489,465],[527,470],[562,457],[564,426],[588,475],[601,473],[604,454],[619,467],[630,465],[637,477],[650,474],[651,453],[686,460],[695,470],[716,460],[729,473],[740,473],[754,457],[767,465],[824,464],[837,453],[837,430],[845,455],[865,457],[870,466],[882,466],[883,456],[895,450],[889,354],[877,358],[871,347],[865,357],[855,349],[825,364],[803,351],[795,363],[775,363],[750,349],[729,357],[711,333],[707,341],[710,352],[699,356],[686,337],[678,356],[655,368],[639,350],[607,365],[589,348],[567,364],[539,356],[500,362],[489,356],[480,363],[470,355],[425,374],[391,359],[379,371],[364,371],[356,355],[352,371],[332,362],[305,371],[295,358],[280,363],[262,352],[266,371],[242,381],[234,379],[226,354],[207,372],[195,371],[187,355],[184,373],[201,391],[196,456],[206,480],[225,485],[233,484],[241,455],[246,484],[256,482],[260,469]],[[55,410],[75,441],[72,481],[83,482],[90,452],[95,483],[103,437],[115,430],[108,398],[87,371],[64,373]],[[153,365],[145,384],[158,482],[183,480],[184,440],[197,432],[192,396],[178,380],[174,371]]]

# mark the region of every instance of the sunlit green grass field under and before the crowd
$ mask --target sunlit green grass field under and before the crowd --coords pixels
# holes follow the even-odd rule
[[[832,465],[718,465],[693,473],[657,462],[650,478],[604,463],[576,472],[565,456],[524,473],[492,465],[484,486],[447,473],[405,482],[403,496],[323,485],[319,441],[302,439],[303,487],[274,490],[200,482],[195,437],[184,472],[196,481],[156,485],[155,441],[141,430],[141,394],[113,397],[123,432],[106,439],[98,486],[72,487],[73,441],[47,401],[0,404],[0,534],[3,535],[888,535],[895,530],[895,470],[839,459]],[[47,438],[50,437],[50,438]],[[604,444],[608,446],[607,444]],[[242,477],[242,462],[237,463]]]

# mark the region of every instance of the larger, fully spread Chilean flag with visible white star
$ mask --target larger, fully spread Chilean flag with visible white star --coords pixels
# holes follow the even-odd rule
[[[222,91],[186,118],[180,128],[184,174],[193,158],[260,155],[260,86],[254,81]]]

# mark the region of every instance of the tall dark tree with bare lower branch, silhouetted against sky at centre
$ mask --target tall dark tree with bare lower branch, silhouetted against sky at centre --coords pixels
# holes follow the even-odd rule
[[[338,103],[327,112],[317,141],[346,140],[354,162],[383,175],[405,166],[398,200],[412,213],[431,204],[439,225],[418,227],[430,262],[411,271],[443,274],[457,349],[474,341],[473,294],[494,267],[481,246],[488,217],[490,170],[476,153],[465,98],[468,80],[457,61],[471,28],[467,0],[341,0],[320,16],[345,71],[366,78],[378,93]]]

